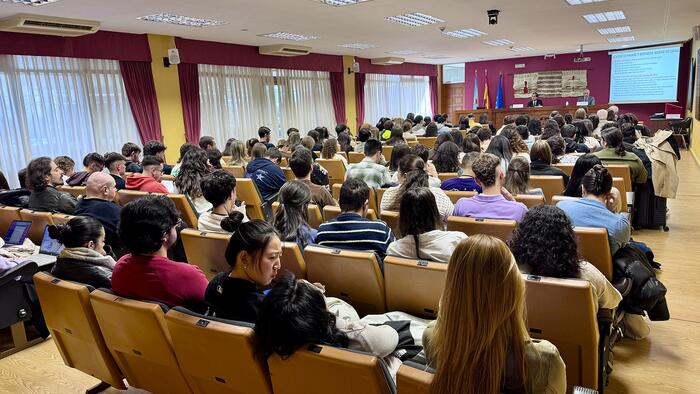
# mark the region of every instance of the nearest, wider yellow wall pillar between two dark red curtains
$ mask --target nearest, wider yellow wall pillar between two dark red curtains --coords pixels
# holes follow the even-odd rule
[[[151,69],[158,98],[163,143],[168,147],[165,156],[168,163],[175,163],[180,156],[180,145],[185,143],[180,80],[177,66],[163,66],[163,57],[168,55],[168,49],[175,48],[175,37],[149,34],[148,44],[153,58]]]

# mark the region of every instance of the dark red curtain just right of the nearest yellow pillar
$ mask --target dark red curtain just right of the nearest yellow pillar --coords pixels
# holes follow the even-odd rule
[[[182,114],[185,118],[185,138],[187,142],[199,142],[201,111],[199,108],[199,70],[196,64],[180,63],[177,66],[180,78]]]

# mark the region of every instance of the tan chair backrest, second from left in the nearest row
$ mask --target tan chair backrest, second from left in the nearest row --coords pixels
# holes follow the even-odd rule
[[[107,348],[132,387],[153,393],[191,393],[175,358],[160,304],[90,294]],[[215,350],[215,349],[212,349]]]

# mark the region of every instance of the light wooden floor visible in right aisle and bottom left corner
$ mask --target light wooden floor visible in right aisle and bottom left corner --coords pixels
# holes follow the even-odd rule
[[[684,153],[678,197],[669,201],[671,231],[633,235],[663,264],[671,320],[652,322],[648,339],[617,345],[607,393],[700,392],[700,167]],[[0,360],[0,393],[78,393],[97,383],[64,366],[51,340]]]

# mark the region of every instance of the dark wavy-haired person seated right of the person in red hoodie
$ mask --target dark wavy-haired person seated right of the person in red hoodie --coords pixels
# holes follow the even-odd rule
[[[145,161],[145,159],[144,159]],[[197,215],[210,211],[213,206],[202,194],[202,179],[209,175],[209,159],[204,150],[195,148],[185,153],[180,171],[175,178],[175,191],[192,202]]]

